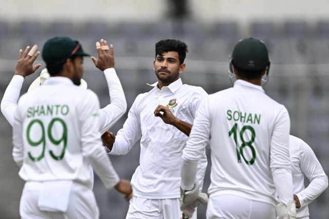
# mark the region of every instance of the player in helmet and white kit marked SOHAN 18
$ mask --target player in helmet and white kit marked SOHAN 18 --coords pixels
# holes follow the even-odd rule
[[[211,94],[200,104],[183,151],[182,207],[198,203],[196,165],[210,141],[207,218],[274,219],[276,190],[279,218],[295,218],[290,212],[296,214],[290,120],[286,108],[261,87],[270,65],[265,44],[255,38],[239,41],[230,64],[237,79],[233,88]]]

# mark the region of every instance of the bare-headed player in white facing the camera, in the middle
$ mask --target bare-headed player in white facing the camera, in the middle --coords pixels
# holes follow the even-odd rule
[[[195,112],[207,93],[200,87],[182,84],[187,45],[176,39],[159,41],[153,62],[158,82],[139,94],[131,107],[109,154],[126,154],[140,140],[140,158],[133,177],[132,198],[126,218],[178,219],[181,153],[190,133]],[[163,114],[162,114],[163,113]],[[162,121],[163,120],[163,121]],[[207,158],[198,162],[202,184]],[[196,218],[196,215],[193,216]]]

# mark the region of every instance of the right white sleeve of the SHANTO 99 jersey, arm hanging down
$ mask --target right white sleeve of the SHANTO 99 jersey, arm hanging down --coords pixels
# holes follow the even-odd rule
[[[118,184],[120,178],[109,161],[100,140],[98,110],[98,98],[94,92],[89,91],[86,96],[81,98],[78,108],[82,152],[93,166],[104,186],[111,189]]]

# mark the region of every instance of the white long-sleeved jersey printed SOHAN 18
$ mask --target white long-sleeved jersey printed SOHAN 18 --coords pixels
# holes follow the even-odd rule
[[[184,164],[197,161],[210,138],[210,197],[237,195],[275,206],[278,183],[273,182],[272,172],[277,170],[288,171],[285,184],[280,182],[288,188],[281,198],[293,199],[289,129],[283,105],[268,97],[261,86],[237,80],[233,88],[211,94],[200,104],[182,158]],[[190,169],[183,168],[185,172]],[[191,184],[184,177],[182,181],[182,185]],[[282,187],[278,189],[285,190]]]

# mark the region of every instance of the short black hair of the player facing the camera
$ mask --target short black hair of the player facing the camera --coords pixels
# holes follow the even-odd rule
[[[155,44],[155,57],[162,55],[163,52],[177,52],[179,64],[182,64],[188,50],[187,45],[178,39],[163,39]]]

